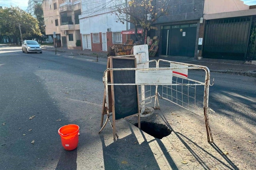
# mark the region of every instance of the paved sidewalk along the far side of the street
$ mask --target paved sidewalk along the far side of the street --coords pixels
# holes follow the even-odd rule
[[[43,46],[44,50],[55,51],[53,46]],[[67,52],[71,54],[107,57],[107,52],[92,52],[90,50],[70,50],[62,47],[57,47],[57,52]],[[149,57],[149,60],[169,60],[174,62],[183,62],[188,64],[202,65],[210,69],[211,72],[221,72],[228,74],[239,74],[250,77],[256,77],[256,65],[244,64],[244,61],[238,60],[221,60],[221,59],[208,59],[195,60],[194,57],[184,56],[168,56],[168,57]]]

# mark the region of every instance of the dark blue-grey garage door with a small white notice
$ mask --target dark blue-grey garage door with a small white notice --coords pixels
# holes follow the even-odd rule
[[[162,55],[195,55],[197,24],[163,26]]]

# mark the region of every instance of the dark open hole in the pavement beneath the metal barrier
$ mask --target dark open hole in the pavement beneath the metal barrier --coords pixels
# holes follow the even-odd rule
[[[138,123],[135,123],[134,126],[138,127]],[[140,129],[157,139],[162,139],[172,132],[166,125],[145,121],[140,122]]]

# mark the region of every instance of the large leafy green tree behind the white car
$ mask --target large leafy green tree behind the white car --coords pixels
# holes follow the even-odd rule
[[[0,9],[0,25],[0,35],[12,37],[16,44],[18,44],[18,38],[21,39],[19,26],[23,39],[33,35],[41,36],[38,21],[18,7],[11,6],[10,8]]]

